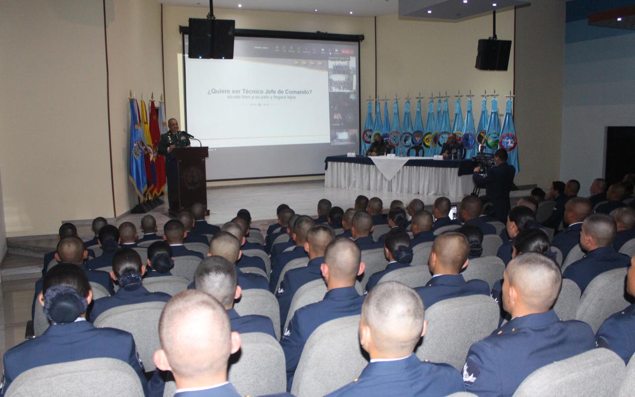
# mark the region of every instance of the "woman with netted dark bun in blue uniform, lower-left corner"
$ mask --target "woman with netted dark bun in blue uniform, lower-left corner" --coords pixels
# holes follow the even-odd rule
[[[114,328],[95,328],[86,321],[93,299],[86,273],[73,264],[58,264],[44,276],[37,304],[52,325],[43,335],[28,339],[4,353],[1,394],[20,373],[43,365],[88,358],[114,358],[128,363],[146,387],[144,366],[130,333]]]

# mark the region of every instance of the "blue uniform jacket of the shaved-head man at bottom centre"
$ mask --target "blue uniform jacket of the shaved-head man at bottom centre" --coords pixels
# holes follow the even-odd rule
[[[448,396],[464,391],[461,375],[448,364],[420,361],[410,354],[398,361],[369,363],[359,378],[327,397]]]

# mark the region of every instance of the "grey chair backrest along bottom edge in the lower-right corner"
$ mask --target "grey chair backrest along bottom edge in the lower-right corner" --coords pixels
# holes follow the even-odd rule
[[[624,360],[617,354],[592,349],[538,368],[518,386],[514,397],[615,396],[624,373]]]

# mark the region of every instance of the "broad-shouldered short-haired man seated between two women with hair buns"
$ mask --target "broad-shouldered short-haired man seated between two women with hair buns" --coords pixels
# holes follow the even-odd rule
[[[425,306],[430,307],[439,300],[469,295],[490,295],[490,286],[483,280],[465,281],[461,269],[469,262],[467,238],[457,232],[445,232],[432,244],[428,266],[432,278],[425,286],[415,288]]]

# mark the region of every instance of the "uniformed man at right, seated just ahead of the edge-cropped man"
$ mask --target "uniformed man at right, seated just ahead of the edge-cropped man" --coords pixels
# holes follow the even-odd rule
[[[615,220],[604,213],[589,215],[582,224],[580,232],[580,246],[587,254],[584,258],[570,264],[563,273],[564,278],[572,279],[584,293],[587,285],[598,274],[627,267],[629,257],[615,252]]]

